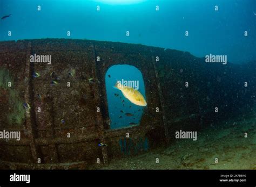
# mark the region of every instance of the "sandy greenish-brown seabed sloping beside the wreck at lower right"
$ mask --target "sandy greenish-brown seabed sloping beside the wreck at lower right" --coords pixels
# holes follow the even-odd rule
[[[198,132],[197,141],[179,139],[167,148],[112,160],[98,169],[256,169],[255,123],[255,113],[240,116]]]

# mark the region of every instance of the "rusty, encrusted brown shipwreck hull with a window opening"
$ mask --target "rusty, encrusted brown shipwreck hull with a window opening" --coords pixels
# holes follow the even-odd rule
[[[52,63],[31,63],[33,54],[51,55]],[[142,72],[147,107],[138,126],[111,130],[105,74],[116,64]],[[84,169],[107,164],[147,151],[145,142],[150,148],[166,145],[177,130],[200,131],[241,108],[252,110],[255,103],[253,71],[244,74],[233,64],[205,64],[187,52],[143,45],[70,39],[0,42],[0,70],[4,77],[0,131],[21,131],[20,141],[0,139],[1,169]],[[67,76],[70,70],[75,70],[74,77]],[[32,78],[35,71],[41,76]],[[59,81],[52,86],[53,71]],[[243,87],[245,81],[250,87]],[[7,82],[12,86],[7,87]],[[234,90],[239,97],[228,95]],[[226,106],[230,99],[234,105]],[[30,103],[29,113],[17,109],[22,103]],[[214,112],[216,106],[221,112]],[[100,142],[108,146],[99,147]]]

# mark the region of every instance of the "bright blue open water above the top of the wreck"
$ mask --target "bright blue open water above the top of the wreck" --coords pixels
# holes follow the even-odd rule
[[[72,38],[129,42],[256,59],[255,0],[1,0],[0,40]],[[132,3],[134,2],[134,3]],[[37,6],[41,11],[37,11]],[[100,11],[97,11],[97,5]],[[159,5],[159,11],[156,11]],[[218,11],[214,6],[218,5]],[[11,37],[8,31],[12,32]],[[70,37],[67,31],[71,32]],[[130,31],[130,36],[126,36]],[[185,37],[185,31],[189,36]],[[248,31],[248,36],[244,36]]]

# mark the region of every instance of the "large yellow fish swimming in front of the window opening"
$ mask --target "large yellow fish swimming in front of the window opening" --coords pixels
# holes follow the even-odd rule
[[[124,97],[129,99],[131,103],[139,105],[139,106],[146,106],[147,102],[146,99],[143,97],[142,93],[138,90],[135,90],[131,87],[124,87],[121,83],[116,83],[114,88],[121,90]]]

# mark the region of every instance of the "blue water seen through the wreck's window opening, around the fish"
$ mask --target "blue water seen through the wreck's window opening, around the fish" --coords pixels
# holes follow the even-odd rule
[[[105,80],[111,129],[130,127],[130,123],[134,123],[134,125],[139,124],[144,111],[144,106],[131,103],[130,100],[123,96],[120,90],[113,88],[113,85],[122,79],[124,81],[138,81],[138,91],[146,98],[143,76],[136,67],[129,65],[110,67],[107,70]],[[118,96],[115,96],[115,93],[118,94]],[[126,116],[125,113],[131,113],[133,116]]]

